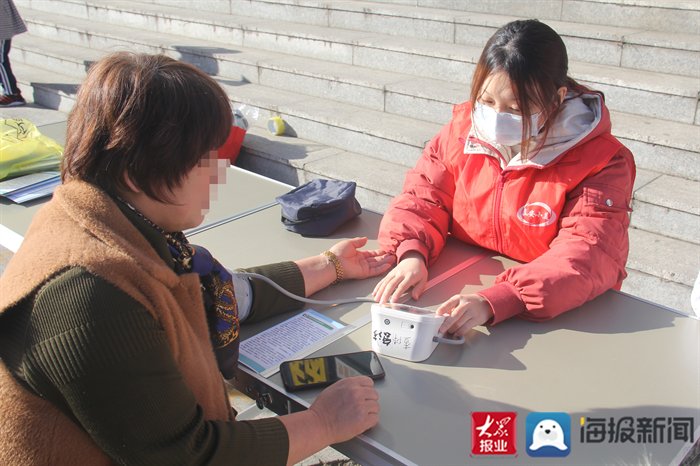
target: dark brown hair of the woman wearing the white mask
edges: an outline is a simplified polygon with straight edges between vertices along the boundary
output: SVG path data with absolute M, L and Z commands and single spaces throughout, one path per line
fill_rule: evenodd
M 544 137 L 535 148 L 536 152 L 561 109 L 557 90 L 567 87 L 577 93 L 585 91 L 569 77 L 568 71 L 566 46 L 554 29 L 536 19 L 512 21 L 499 28 L 486 42 L 472 78 L 471 103 L 476 104 L 489 76 L 504 72 L 513 85 L 523 115 L 532 114 L 533 104 L 542 109 Z M 530 119 L 523 118 L 523 142 L 529 134 Z M 522 155 L 529 155 L 527 144 L 522 146 Z

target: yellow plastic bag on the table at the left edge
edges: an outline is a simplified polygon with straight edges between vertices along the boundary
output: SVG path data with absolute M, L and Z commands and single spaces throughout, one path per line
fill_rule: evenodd
M 0 180 L 47 170 L 61 164 L 63 147 L 24 118 L 0 119 Z

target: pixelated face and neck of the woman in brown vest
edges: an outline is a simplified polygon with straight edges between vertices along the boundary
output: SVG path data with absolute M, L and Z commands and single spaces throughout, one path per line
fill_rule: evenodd
M 210 151 L 168 196 L 160 202 L 138 190 L 122 193 L 122 197 L 165 231 L 182 231 L 202 223 L 209 211 L 209 202 L 216 195 L 217 185 L 224 183 L 228 161 L 219 160 L 217 151 Z M 132 188 L 133 189 L 133 188 Z

